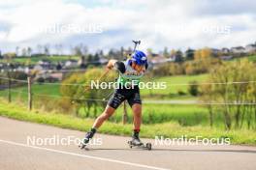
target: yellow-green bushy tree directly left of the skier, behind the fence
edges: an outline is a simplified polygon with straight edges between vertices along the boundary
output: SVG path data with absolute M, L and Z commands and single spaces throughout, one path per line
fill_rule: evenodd
M 102 75 L 103 71 L 100 69 L 91 69 L 85 73 L 74 73 L 71 76 L 63 80 L 63 84 L 77 83 L 85 86 L 61 86 L 61 94 L 66 97 L 70 97 L 70 103 L 74 103 L 76 106 L 76 114 L 80 115 L 80 108 L 84 109 L 86 113 L 85 117 L 89 117 L 91 109 L 93 108 L 93 117 L 97 116 L 98 106 L 105 107 L 105 102 L 97 100 L 105 98 L 104 94 L 110 94 L 112 89 L 95 89 L 90 87 L 92 80 L 97 81 Z M 114 81 L 115 73 L 109 72 L 108 75 L 102 77 L 100 82 Z

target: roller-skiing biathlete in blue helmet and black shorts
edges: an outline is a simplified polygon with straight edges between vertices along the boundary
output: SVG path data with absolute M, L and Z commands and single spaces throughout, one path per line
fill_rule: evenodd
M 85 134 L 81 148 L 84 148 L 95 132 L 108 120 L 115 109 L 127 100 L 132 108 L 134 115 L 133 124 L 134 131 L 132 135 L 132 143 L 135 146 L 143 145 L 140 140 L 139 133 L 142 124 L 142 100 L 140 97 L 139 83 L 147 69 L 147 58 L 143 51 L 135 50 L 131 58 L 126 61 L 110 60 L 107 65 L 108 70 L 116 70 L 119 72 L 117 79 L 118 88 L 115 89 L 112 98 L 104 112 L 95 120 L 92 128 Z

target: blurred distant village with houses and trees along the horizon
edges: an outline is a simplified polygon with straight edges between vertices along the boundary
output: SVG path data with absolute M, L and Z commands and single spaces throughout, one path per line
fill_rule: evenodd
M 62 44 L 41 45 L 38 44 L 36 49 L 31 47 L 20 48 L 16 46 L 16 52 L 2 53 L 0 50 L 0 72 L 7 71 L 17 72 L 15 77 L 26 79 L 24 74 L 33 75 L 34 81 L 61 81 L 65 73 L 70 71 L 85 71 L 87 68 L 100 67 L 106 65 L 109 59 L 125 60 L 127 55 L 131 53 L 132 48 L 110 49 L 104 53 L 98 50 L 94 54 L 88 52 L 88 47 L 82 43 L 75 47 L 71 47 L 70 54 L 63 54 L 64 46 Z M 54 52 L 51 52 L 54 51 Z M 256 42 L 245 46 L 203 48 L 188 48 L 185 51 L 169 50 L 165 47 L 162 51 L 155 53 L 148 48 L 146 53 L 148 56 L 149 68 L 155 70 L 166 63 L 183 63 L 194 60 L 199 53 L 204 52 L 213 58 L 229 61 L 240 57 L 247 57 L 256 53 Z M 202 73 L 202 72 L 200 72 Z

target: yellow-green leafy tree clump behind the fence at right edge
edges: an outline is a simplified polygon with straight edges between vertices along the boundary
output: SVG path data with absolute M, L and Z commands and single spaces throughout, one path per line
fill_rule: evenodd
M 215 84 L 212 84 L 210 89 L 204 88 L 203 96 L 206 97 L 205 99 L 210 97 L 213 102 L 223 103 L 216 107 L 222 111 L 227 129 L 232 128 L 233 122 L 235 128 L 241 128 L 245 118 L 247 118 L 248 127 L 251 125 L 256 106 L 244 103 L 255 103 L 256 87 L 255 83 L 251 83 L 256 81 L 253 73 L 255 71 L 253 63 L 247 60 L 224 63 L 210 71 L 210 82 Z M 256 123 L 256 114 L 254 117 Z

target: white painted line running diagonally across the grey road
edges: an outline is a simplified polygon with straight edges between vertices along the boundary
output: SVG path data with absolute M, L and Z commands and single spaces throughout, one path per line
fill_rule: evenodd
M 125 165 L 130 165 L 130 166 L 136 166 L 136 167 L 141 167 L 141 168 L 146 168 L 146 169 L 154 169 L 154 170 L 171 170 L 171 169 L 165 169 L 165 168 L 160 168 L 156 166 L 148 166 L 144 164 L 139 164 L 139 163 L 132 163 L 132 162 L 127 162 L 127 161 L 121 161 L 121 160 L 115 160 L 112 158 L 105 158 L 105 157 L 99 157 L 99 156 L 87 156 L 87 155 L 80 155 L 76 153 L 70 153 L 70 152 L 65 152 L 65 151 L 59 151 L 59 150 L 53 150 L 53 149 L 48 149 L 44 147 L 36 147 L 36 146 L 30 146 L 22 143 L 16 143 L 13 141 L 8 141 L 8 140 L 1 140 L 0 142 L 6 143 L 6 144 L 11 144 L 11 145 L 16 145 L 20 147 L 27 147 L 27 148 L 33 148 L 37 150 L 44 150 L 52 153 L 58 153 L 58 154 L 64 154 L 64 155 L 70 155 L 70 156 L 80 156 L 80 157 L 86 157 L 86 158 L 91 158 L 91 159 L 96 159 L 96 160 L 102 160 L 102 161 L 109 161 L 109 162 L 114 162 L 114 163 L 119 163 L 119 164 L 125 164 Z

